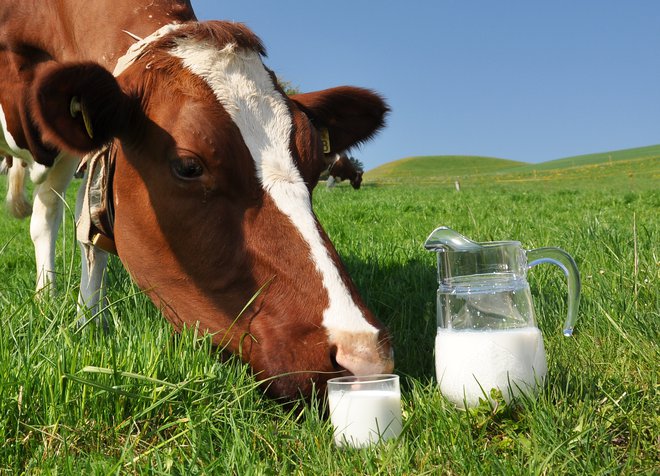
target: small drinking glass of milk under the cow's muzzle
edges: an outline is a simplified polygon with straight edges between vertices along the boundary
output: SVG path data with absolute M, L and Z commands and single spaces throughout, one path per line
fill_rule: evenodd
M 330 379 L 328 403 L 338 447 L 363 448 L 401 434 L 398 375 Z

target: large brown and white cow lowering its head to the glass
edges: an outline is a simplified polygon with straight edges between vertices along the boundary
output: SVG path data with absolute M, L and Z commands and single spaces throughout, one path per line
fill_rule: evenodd
M 320 131 L 331 153 L 344 150 L 383 126 L 387 106 L 353 87 L 289 98 L 263 56 L 245 26 L 198 23 L 187 1 L 5 0 L 0 149 L 19 159 L 12 183 L 19 162 L 39 183 L 38 288 L 54 280 L 58 197 L 77 157 L 101 150 L 112 164 L 106 235 L 131 277 L 175 327 L 199 323 L 271 395 L 292 398 L 393 368 L 387 331 L 310 198 L 325 167 Z M 88 201 L 81 192 L 78 214 Z M 107 254 L 82 248 L 79 303 L 94 312 Z

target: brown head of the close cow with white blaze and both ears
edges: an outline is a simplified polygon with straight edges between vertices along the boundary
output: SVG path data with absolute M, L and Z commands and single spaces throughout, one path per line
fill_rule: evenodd
M 33 93 L 50 143 L 113 143 L 114 234 L 139 287 L 175 326 L 214 333 L 274 396 L 391 371 L 390 338 L 311 208 L 323 129 L 333 153 L 365 141 L 383 100 L 352 87 L 287 97 L 240 24 L 183 24 L 132 50 L 116 78 L 57 65 Z

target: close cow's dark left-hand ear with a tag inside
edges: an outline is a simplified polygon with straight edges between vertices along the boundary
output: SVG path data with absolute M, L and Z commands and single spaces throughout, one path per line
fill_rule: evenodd
M 131 103 L 115 77 L 96 63 L 48 66 L 32 89 L 32 113 L 43 139 L 76 154 L 121 135 Z

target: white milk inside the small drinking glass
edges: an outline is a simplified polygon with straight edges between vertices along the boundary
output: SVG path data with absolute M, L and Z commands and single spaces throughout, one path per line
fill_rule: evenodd
M 328 393 L 337 446 L 361 448 L 401 434 L 401 395 L 388 390 Z

